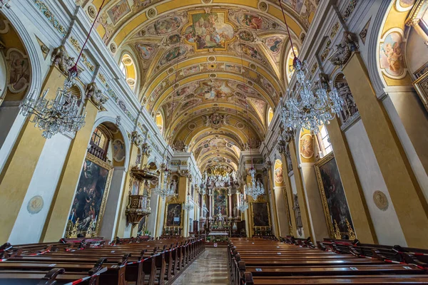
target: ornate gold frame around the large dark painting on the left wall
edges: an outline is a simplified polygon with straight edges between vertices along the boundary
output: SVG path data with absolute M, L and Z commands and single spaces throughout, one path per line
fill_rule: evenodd
M 108 198 L 108 193 L 110 192 L 111 177 L 113 177 L 114 168 L 112 165 L 108 164 L 107 162 L 105 162 L 103 160 L 100 160 L 98 157 L 95 157 L 89 153 L 85 157 L 85 161 L 86 160 L 88 160 L 89 162 L 92 162 L 94 165 L 97 165 L 98 167 L 101 167 L 103 170 L 107 171 L 106 185 L 104 186 L 100 208 L 99 208 L 98 214 L 96 215 L 95 229 L 88 227 L 88 229 L 83 231 L 85 233 L 86 237 L 96 237 L 100 232 L 100 226 L 101 226 L 101 223 L 103 222 L 104 211 L 106 209 L 106 202 L 107 202 L 107 198 Z M 83 168 L 81 170 L 81 173 L 82 173 L 82 171 L 83 171 Z M 76 191 L 74 193 L 72 203 L 74 203 L 74 199 L 76 198 L 76 195 L 78 194 L 80 183 L 81 183 L 81 178 L 79 177 L 78 185 L 76 187 Z M 71 219 L 70 219 L 70 215 L 73 214 L 73 209 L 76 210 L 74 205 L 71 206 L 71 210 L 68 213 L 67 229 L 66 229 L 66 234 L 65 234 L 66 237 L 76 237 L 78 233 L 82 232 L 82 230 L 78 228 L 78 225 L 79 225 L 78 222 L 73 222 L 73 215 L 71 216 Z

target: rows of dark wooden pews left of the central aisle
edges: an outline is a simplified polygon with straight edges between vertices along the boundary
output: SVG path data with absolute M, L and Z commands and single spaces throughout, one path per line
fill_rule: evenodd
M 19 279 L 21 283 L 25 280 L 29 284 L 39 284 L 38 279 L 43 279 L 46 284 L 54 280 L 56 284 L 66 284 L 76 278 L 85 279 L 82 284 L 121 285 L 133 282 L 138 285 L 163 285 L 165 281 L 172 282 L 203 252 L 205 241 L 183 238 L 158 241 L 116 239 L 111 245 L 98 241 L 96 247 L 82 241 L 67 242 L 71 241 L 56 243 L 61 247 L 56 247 L 55 251 L 51 251 L 53 247 L 49 243 L 19 246 L 21 249 L 31 248 L 31 251 L 12 250 L 14 247 L 6 244 L 3 254 L 7 259 L 0 262 L 0 281 Z M 93 264 L 100 260 L 102 266 L 98 264 L 98 269 L 94 270 L 96 266 Z M 50 272 L 53 268 L 57 270 Z M 14 276 L 16 278 L 12 278 Z M 49 278 L 51 281 L 46 281 Z

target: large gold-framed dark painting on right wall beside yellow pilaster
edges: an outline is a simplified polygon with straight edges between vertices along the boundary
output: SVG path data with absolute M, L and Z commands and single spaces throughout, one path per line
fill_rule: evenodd
M 347 235 L 349 239 L 355 239 L 350 209 L 333 152 L 315 164 L 315 172 L 330 237 L 342 239 L 343 235 Z

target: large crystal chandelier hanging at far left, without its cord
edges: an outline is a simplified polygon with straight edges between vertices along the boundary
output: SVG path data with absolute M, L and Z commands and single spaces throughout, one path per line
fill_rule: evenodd
M 34 93 L 27 96 L 19 104 L 21 115 L 32 115 L 31 123 L 43 130 L 44 138 L 52 138 L 57 133 L 71 133 L 80 130 L 85 125 L 86 112 L 83 107 L 79 112 L 78 98 L 70 91 L 76 81 L 77 73 L 70 71 L 63 88 L 56 90 L 55 100 L 47 100 L 49 88 L 41 96 Z M 83 114 L 83 115 L 81 115 Z

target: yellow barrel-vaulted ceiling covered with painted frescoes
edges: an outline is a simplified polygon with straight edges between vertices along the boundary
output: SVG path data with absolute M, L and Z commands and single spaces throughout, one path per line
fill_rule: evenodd
M 319 0 L 282 0 L 301 46 Z M 102 0 L 83 1 L 94 18 Z M 113 56 L 133 56 L 136 94 L 170 145 L 186 145 L 201 171 L 237 169 L 267 133 L 287 88 L 290 51 L 277 0 L 106 0 L 96 26 Z

